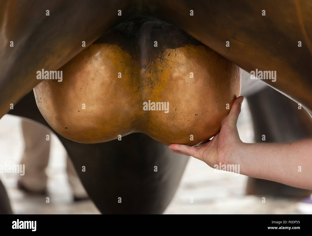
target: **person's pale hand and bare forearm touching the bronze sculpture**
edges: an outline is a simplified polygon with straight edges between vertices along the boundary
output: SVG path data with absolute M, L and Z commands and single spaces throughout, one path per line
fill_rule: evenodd
M 243 100 L 242 96 L 235 100 L 220 132 L 212 140 L 195 147 L 171 144 L 169 148 L 175 153 L 202 160 L 212 168 L 219 163 L 239 164 L 242 175 L 312 189 L 312 139 L 289 143 L 243 143 L 236 126 Z

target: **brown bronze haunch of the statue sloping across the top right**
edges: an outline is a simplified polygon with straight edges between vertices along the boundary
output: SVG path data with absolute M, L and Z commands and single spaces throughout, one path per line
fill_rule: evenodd
M 276 82 L 262 81 L 312 112 L 312 1 L 153 0 L 145 8 L 248 72 L 276 71 Z

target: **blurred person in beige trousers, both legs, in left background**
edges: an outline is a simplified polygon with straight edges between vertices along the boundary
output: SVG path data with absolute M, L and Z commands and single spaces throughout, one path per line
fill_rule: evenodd
M 50 141 L 46 140 L 46 135 L 51 136 L 51 132 L 43 125 L 36 124 L 23 119 L 21 122 L 22 133 L 25 142 L 24 154 L 21 163 L 25 164 L 25 175 L 19 177 L 17 186 L 33 194 L 46 193 L 48 177 L 46 167 L 50 155 Z M 71 186 L 75 201 L 88 199 L 85 188 L 76 173 L 76 170 L 69 158 L 66 158 L 66 172 L 69 185 Z

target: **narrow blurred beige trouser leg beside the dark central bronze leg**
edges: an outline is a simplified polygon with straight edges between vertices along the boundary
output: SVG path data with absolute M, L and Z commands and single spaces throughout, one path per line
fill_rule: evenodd
M 85 188 L 83 187 L 69 156 L 66 158 L 66 172 L 68 183 L 71 186 L 71 190 L 73 192 L 74 200 L 80 201 L 88 199 L 88 194 L 85 191 Z

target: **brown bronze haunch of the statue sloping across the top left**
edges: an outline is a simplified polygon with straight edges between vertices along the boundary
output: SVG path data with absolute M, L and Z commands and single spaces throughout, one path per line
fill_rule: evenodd
M 124 0 L 0 1 L 0 117 L 40 81 L 123 19 Z M 46 15 L 49 10 L 49 16 Z M 130 12 L 124 12 L 124 17 Z M 128 15 L 129 17 L 129 15 Z M 13 41 L 13 47 L 10 42 Z

